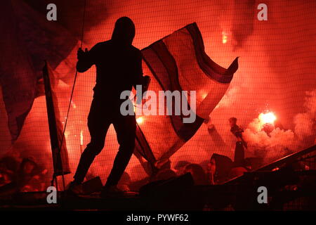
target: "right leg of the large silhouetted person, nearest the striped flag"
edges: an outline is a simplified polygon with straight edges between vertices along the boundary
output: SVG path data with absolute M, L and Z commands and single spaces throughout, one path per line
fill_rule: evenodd
M 119 152 L 114 159 L 113 167 L 107 178 L 105 188 L 116 186 L 129 164 L 131 155 L 135 147 L 136 118 L 135 115 L 119 115 L 113 120 L 114 129 L 117 132 L 119 142 Z

